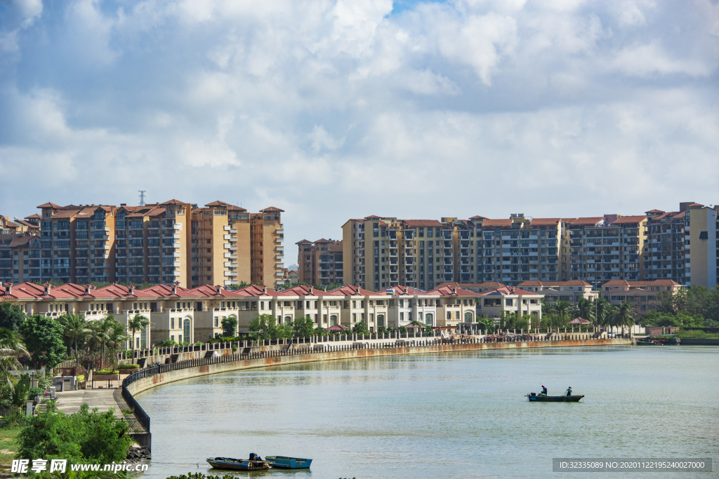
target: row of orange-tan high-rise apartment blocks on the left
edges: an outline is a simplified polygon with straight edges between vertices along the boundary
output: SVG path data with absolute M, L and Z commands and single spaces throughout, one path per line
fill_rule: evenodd
M 178 200 L 37 208 L 24 220 L 0 216 L 0 282 L 283 283 L 279 208 Z

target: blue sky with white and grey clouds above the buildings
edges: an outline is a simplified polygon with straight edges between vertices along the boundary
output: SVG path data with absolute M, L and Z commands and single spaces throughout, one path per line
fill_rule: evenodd
M 0 0 L 0 214 L 349 218 L 719 202 L 716 0 Z

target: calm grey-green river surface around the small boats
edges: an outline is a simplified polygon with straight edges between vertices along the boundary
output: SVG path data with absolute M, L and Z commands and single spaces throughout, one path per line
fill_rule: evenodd
M 526 401 L 541 384 L 586 397 Z M 312 468 L 234 475 L 546 477 L 553 457 L 711 457 L 713 473 L 633 475 L 719 477 L 719 348 L 710 346 L 325 361 L 188 379 L 137 399 L 152 418 L 153 479 L 219 474 L 206 457 L 249 452 L 311 457 Z

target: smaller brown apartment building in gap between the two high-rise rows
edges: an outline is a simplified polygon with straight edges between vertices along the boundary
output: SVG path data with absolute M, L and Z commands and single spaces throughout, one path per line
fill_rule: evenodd
M 321 238 L 296 244 L 298 281 L 317 286 L 343 284 L 342 241 Z

